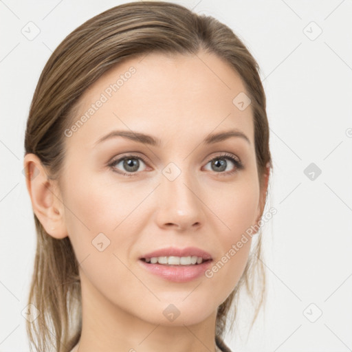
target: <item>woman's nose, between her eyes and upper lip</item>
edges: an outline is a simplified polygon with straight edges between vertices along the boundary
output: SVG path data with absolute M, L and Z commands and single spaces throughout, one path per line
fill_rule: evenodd
M 200 228 L 205 219 L 204 204 L 201 201 L 201 190 L 187 172 L 170 181 L 162 175 L 162 181 L 157 188 L 156 221 L 159 228 L 175 228 L 186 232 Z

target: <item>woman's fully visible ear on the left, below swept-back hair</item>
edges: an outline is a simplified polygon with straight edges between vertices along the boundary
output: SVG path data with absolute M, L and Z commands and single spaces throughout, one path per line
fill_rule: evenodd
M 65 225 L 65 206 L 61 200 L 56 181 L 49 179 L 41 159 L 33 153 L 28 153 L 23 161 L 25 179 L 32 201 L 32 208 L 43 228 L 56 239 L 67 236 Z

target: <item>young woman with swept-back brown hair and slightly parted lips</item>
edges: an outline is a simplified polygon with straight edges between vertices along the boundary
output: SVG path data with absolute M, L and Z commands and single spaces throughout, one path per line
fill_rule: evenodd
M 230 351 L 239 288 L 264 283 L 250 248 L 272 161 L 258 67 L 228 27 L 160 1 L 80 25 L 39 79 L 24 166 L 36 351 Z

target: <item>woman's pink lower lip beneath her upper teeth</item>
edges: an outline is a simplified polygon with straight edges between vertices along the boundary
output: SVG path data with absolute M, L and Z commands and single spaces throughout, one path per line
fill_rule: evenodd
M 152 274 L 160 276 L 174 283 L 187 283 L 201 277 L 211 265 L 212 261 L 205 261 L 196 265 L 162 265 L 151 264 L 139 260 L 140 265 Z

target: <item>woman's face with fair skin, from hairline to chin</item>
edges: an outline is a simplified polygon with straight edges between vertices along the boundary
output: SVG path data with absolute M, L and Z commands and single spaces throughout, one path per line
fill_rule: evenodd
M 124 61 L 85 91 L 65 131 L 61 184 L 83 302 L 162 325 L 216 313 L 248 260 L 250 236 L 236 243 L 261 214 L 252 107 L 243 94 L 239 76 L 204 52 Z M 208 138 L 228 131 L 245 137 Z M 182 267 L 142 260 L 163 249 L 155 256 L 204 251 L 211 260 L 181 259 Z

